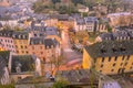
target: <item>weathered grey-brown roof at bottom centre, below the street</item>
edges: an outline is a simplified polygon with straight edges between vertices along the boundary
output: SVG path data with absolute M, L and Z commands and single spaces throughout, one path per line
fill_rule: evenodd
M 93 75 L 93 82 L 99 84 L 99 76 L 95 72 L 91 72 L 89 69 L 76 69 L 76 70 L 62 70 L 58 72 L 55 77 L 62 77 L 66 79 L 70 85 L 73 84 L 90 84 L 92 80 Z

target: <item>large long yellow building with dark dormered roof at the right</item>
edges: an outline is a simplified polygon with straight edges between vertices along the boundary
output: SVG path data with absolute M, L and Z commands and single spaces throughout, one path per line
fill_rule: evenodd
M 104 41 L 85 46 L 83 68 L 113 75 L 133 72 L 133 41 Z

